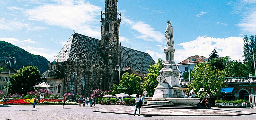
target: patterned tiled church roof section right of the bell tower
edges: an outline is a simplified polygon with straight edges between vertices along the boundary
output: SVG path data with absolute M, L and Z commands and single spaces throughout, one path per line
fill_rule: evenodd
M 142 73 L 142 63 L 144 66 L 144 73 L 148 73 L 149 64 L 155 64 L 153 58 L 148 54 L 127 47 L 120 46 L 121 51 L 121 65 L 124 67 L 131 67 L 139 73 Z

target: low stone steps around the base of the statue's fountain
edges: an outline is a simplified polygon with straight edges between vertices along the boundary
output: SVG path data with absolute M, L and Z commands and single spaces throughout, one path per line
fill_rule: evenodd
M 148 105 L 143 104 L 143 108 L 155 108 L 155 109 L 210 109 L 203 106 L 182 106 L 182 105 Z

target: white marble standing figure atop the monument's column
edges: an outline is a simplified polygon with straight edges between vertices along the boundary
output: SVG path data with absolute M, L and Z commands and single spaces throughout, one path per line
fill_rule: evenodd
M 172 29 L 171 21 L 169 21 L 169 20 L 167 21 L 167 27 L 166 27 L 164 36 L 166 37 L 167 45 L 174 47 L 173 29 Z

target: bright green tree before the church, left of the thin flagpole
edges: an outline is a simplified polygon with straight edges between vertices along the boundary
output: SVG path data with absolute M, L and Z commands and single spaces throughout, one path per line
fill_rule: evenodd
M 118 91 L 126 94 L 142 94 L 140 83 L 142 78 L 135 74 L 124 73 L 119 83 Z

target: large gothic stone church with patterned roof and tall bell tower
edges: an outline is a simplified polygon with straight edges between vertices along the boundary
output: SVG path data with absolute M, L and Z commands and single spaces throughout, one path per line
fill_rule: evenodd
M 121 13 L 117 3 L 117 0 L 105 0 L 100 40 L 74 32 L 49 63 L 48 71 L 41 78 L 56 87 L 51 89 L 54 94 L 62 96 L 74 91 L 88 96 L 95 89 L 111 90 L 113 84 L 119 84 L 123 73 L 142 77 L 149 64 L 155 64 L 148 53 L 119 44 Z

